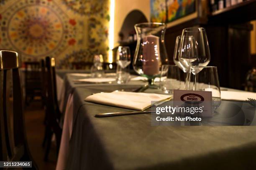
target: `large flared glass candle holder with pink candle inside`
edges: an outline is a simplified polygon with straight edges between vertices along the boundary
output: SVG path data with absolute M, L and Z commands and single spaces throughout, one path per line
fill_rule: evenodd
M 160 77 L 161 66 L 168 64 L 164 45 L 166 24 L 140 23 L 134 27 L 137 34 L 137 46 L 133 58 L 133 69 L 139 75 L 148 78 L 146 88 L 158 88 L 154 85 L 154 79 Z

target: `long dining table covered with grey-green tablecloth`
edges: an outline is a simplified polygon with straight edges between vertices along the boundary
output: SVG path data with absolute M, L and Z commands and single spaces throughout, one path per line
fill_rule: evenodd
M 246 117 L 241 118 L 241 124 L 232 126 L 152 126 L 151 114 L 95 117 L 99 113 L 133 110 L 86 102 L 86 97 L 115 90 L 134 91 L 146 82 L 130 81 L 121 85 L 77 82 L 82 77 L 63 72 L 56 70 L 63 114 L 56 170 L 256 168 L 256 127 L 243 126 Z M 158 93 L 158 90 L 145 92 Z M 216 111 L 230 116 L 256 113 L 255 107 L 247 102 L 231 100 L 222 100 Z

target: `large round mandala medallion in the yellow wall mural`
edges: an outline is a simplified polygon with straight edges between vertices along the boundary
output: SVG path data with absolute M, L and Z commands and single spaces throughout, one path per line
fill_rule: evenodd
M 0 15 L 0 44 L 25 57 L 58 56 L 74 45 L 76 21 L 51 0 L 18 0 Z

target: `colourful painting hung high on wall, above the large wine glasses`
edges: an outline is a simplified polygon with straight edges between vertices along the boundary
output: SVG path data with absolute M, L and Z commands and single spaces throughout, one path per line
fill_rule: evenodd
M 151 22 L 168 23 L 195 12 L 195 0 L 151 0 Z

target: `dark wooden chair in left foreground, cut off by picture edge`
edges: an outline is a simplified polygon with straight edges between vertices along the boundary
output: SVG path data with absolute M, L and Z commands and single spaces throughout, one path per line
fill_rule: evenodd
M 0 50 L 0 161 L 32 161 L 38 169 L 26 140 L 19 59 L 17 52 Z

